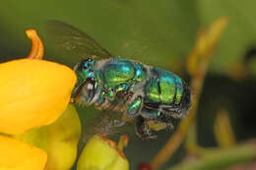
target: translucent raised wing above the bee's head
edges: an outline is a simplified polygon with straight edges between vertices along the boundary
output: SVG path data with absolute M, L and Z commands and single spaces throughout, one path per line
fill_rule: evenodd
M 88 56 L 103 59 L 111 54 L 102 48 L 94 38 L 69 24 L 49 21 L 45 25 L 46 35 L 59 50 L 82 60 Z

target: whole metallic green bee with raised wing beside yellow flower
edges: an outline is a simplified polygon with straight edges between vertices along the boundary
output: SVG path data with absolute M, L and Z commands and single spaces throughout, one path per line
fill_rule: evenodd
M 62 50 L 82 59 L 74 68 L 78 81 L 72 100 L 121 112 L 121 117 L 107 119 L 111 122 L 109 127 L 136 120 L 137 135 L 152 139 L 156 137 L 152 131 L 170 128 L 173 118 L 186 115 L 191 102 L 190 90 L 175 74 L 115 58 L 88 34 L 70 25 L 50 22 L 47 31 Z

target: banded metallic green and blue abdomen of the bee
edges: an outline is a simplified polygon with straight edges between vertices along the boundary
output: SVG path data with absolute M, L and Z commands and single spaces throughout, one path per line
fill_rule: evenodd
M 187 108 L 190 105 L 190 91 L 182 80 L 175 74 L 158 68 L 151 69 L 145 95 L 145 104 L 151 108 L 154 106 L 153 109 L 157 110 L 160 106 L 166 106 L 167 111 L 181 111 L 184 106 Z

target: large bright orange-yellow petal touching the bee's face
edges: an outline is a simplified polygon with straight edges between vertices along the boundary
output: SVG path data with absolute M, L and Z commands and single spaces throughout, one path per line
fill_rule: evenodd
M 54 122 L 67 107 L 75 73 L 64 65 L 21 59 L 0 64 L 0 132 L 22 134 Z

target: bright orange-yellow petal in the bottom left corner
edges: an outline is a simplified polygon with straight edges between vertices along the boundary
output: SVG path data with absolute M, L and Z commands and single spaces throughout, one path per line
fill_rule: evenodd
M 0 170 L 43 170 L 47 154 L 34 146 L 0 136 Z

